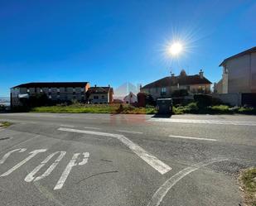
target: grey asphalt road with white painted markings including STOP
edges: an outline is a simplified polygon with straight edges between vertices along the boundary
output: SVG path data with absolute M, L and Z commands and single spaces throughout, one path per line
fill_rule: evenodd
M 0 205 L 239 205 L 256 117 L 0 114 Z

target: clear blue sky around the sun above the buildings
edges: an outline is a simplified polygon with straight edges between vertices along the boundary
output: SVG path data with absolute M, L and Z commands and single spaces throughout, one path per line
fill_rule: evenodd
M 231 3 L 232 2 L 232 3 Z M 256 46 L 256 1 L 2 1 L 0 96 L 33 81 L 147 84 Z M 171 41 L 184 52 L 167 56 Z

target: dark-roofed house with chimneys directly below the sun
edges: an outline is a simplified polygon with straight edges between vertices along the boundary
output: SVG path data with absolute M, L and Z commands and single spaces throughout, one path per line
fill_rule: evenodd
M 210 93 L 210 85 L 211 82 L 204 77 L 202 70 L 195 75 L 187 75 L 185 70 L 181 70 L 178 76 L 171 74 L 143 86 L 141 92 L 151 94 L 154 99 L 167 98 L 171 97 L 174 91 L 181 89 L 186 89 L 188 93 Z

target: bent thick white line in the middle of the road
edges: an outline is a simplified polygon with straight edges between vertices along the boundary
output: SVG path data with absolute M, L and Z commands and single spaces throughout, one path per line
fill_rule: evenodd
M 123 135 L 106 132 L 76 130 L 70 128 L 59 128 L 58 130 L 65 132 L 77 132 L 83 134 L 117 138 L 119 141 L 123 142 L 125 146 L 128 146 L 128 148 L 132 150 L 136 155 L 142 158 L 142 160 L 146 161 L 148 165 L 151 165 L 155 170 L 157 170 L 162 175 L 171 170 L 171 167 L 169 165 L 162 162 L 162 160 L 158 160 L 156 156 L 153 156 L 149 152 L 145 151 L 144 149 L 142 149 L 142 147 L 136 145 L 135 143 L 133 143 L 133 141 L 130 141 L 127 137 L 124 137 Z

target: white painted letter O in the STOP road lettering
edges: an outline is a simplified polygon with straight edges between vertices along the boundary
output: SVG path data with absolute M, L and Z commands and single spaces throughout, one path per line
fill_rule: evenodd
M 45 171 L 45 173 L 43 175 L 40 175 L 38 177 L 35 177 L 36 173 L 41 170 L 41 168 L 46 165 L 46 163 L 51 160 L 51 158 L 53 156 L 55 156 L 56 154 L 60 153 L 60 156 L 57 157 L 57 159 L 54 161 L 54 163 L 51 164 L 51 166 Z M 47 156 L 45 160 L 43 160 L 41 162 L 40 165 L 36 166 L 36 168 L 34 170 L 31 171 L 31 173 L 29 173 L 26 178 L 25 181 L 26 182 L 31 182 L 32 180 L 37 181 L 37 180 L 41 180 L 43 178 L 45 178 L 46 176 L 50 175 L 51 172 L 56 168 L 56 165 L 59 164 L 60 160 L 62 160 L 62 158 L 65 156 L 65 151 L 56 151 L 54 153 L 52 153 L 50 156 Z

